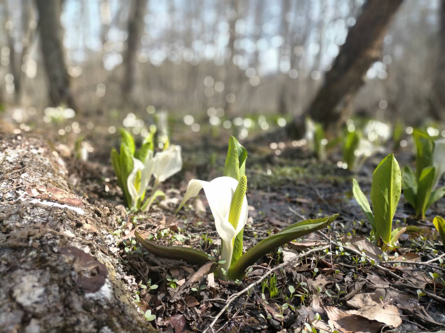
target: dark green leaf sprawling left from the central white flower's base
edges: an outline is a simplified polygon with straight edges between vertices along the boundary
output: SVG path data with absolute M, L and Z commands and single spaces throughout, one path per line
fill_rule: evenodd
M 155 242 L 149 241 L 148 239 L 144 239 L 142 235 L 138 233 L 138 231 L 135 231 L 134 235 L 138 242 L 141 243 L 146 250 L 161 258 L 183 260 L 190 264 L 202 264 L 203 262 L 211 260 L 208 254 L 200 250 L 184 246 L 159 245 Z

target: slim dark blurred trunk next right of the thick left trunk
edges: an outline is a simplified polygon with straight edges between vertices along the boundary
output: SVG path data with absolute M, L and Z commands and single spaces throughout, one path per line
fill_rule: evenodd
M 137 52 L 144 30 L 144 14 L 147 8 L 147 0 L 134 0 L 131 2 L 128 18 L 127 50 L 124 54 L 124 81 L 122 91 L 125 101 L 129 101 L 134 87 Z

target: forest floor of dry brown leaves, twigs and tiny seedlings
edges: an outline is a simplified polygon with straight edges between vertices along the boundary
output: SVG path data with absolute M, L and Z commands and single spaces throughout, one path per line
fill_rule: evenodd
M 190 179 L 211 180 L 223 174 L 228 136 L 211 144 L 218 140 L 177 135 L 173 143 L 181 143 L 183 170 L 162 183 L 166 197 L 159 198 L 146 214 L 123 206 L 109 162 L 117 136 L 94 139 L 96 150 L 101 147 L 101 151 L 93 154 L 91 161 L 65 158 L 68 179 L 74 193 L 95 206 L 108 207 L 115 216 L 100 222 L 102 232 L 113 234 L 108 246 L 119 258 L 135 307 L 141 310 L 141 317 L 150 309 L 156 316 L 151 323 L 159 331 L 445 329 L 444 285 L 429 274 L 445 278 L 443 245 L 432 224 L 434 216 L 445 212 L 445 198 L 429 209 L 426 220 L 418 221 L 402 194 L 393 227 L 414 225 L 421 232 L 403 234 L 400 245 L 387 254 L 367 240 L 370 226 L 352 196 L 352 178 L 369 197 L 372 172 L 384 154 L 372 156 L 360 172 L 352 174 L 336 165 L 338 151 L 320 162 L 306 147 L 294 147 L 291 141 L 279 143 L 279 155 L 263 139 L 243 143 L 248 151 L 249 204 L 244 250 L 302 219 L 340 216 L 329 228 L 265 256 L 243 281 L 235 283 L 214 277 L 209 264 L 190 266 L 155 257 L 134 238 L 138 230 L 165 245 L 188 245 L 217 253 L 218 234 L 202 193 L 174 213 Z M 408 148 L 395 155 L 401 166 L 413 163 Z M 253 289 L 247 289 L 250 284 Z

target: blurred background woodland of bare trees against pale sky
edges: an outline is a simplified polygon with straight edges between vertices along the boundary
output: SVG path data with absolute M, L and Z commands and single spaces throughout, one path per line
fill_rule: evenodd
M 14 107 L 63 104 L 90 116 L 214 107 L 231 117 L 309 114 L 334 127 L 353 110 L 408 123 L 445 114 L 445 0 L 0 6 L 0 99 Z

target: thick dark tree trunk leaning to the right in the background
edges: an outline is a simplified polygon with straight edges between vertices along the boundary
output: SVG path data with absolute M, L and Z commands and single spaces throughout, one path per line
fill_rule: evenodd
M 403 0 L 368 0 L 357 23 L 349 29 L 346 42 L 330 71 L 325 74 L 323 86 L 317 92 L 306 115 L 334 130 L 344 120 L 346 103 L 363 84 L 363 75 L 380 58 L 384 35 L 391 18 Z M 342 105 L 343 104 L 343 105 Z M 295 124 L 288 128 L 290 135 L 299 136 Z

